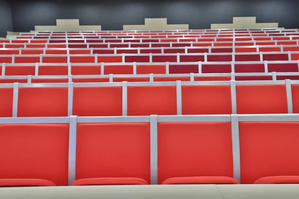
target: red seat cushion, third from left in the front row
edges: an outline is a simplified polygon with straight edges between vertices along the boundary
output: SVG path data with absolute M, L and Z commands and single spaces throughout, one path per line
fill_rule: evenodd
M 239 184 L 236 179 L 223 176 L 180 177 L 168 178 L 162 185 L 193 185 L 193 184 Z

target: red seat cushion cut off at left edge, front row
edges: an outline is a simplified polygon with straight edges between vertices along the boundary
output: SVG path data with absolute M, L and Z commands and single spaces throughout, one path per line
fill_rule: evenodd
M 0 179 L 0 187 L 46 187 L 56 186 L 53 182 L 42 179 Z

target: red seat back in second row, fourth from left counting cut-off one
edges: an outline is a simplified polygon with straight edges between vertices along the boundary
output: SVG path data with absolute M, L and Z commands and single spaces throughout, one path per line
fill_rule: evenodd
M 159 83 L 147 83 L 149 86 L 130 84 L 128 84 L 128 115 L 177 114 L 175 82 L 168 84 L 164 82 L 160 84 L 161 86 L 157 85 Z

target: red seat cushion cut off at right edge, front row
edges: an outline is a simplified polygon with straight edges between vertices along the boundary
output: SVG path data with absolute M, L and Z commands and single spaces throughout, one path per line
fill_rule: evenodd
M 299 176 L 269 176 L 256 180 L 253 184 L 299 184 Z

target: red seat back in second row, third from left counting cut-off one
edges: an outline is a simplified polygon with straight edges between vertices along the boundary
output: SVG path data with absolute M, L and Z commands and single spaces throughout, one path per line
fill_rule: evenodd
M 73 114 L 121 116 L 122 87 L 74 87 Z

